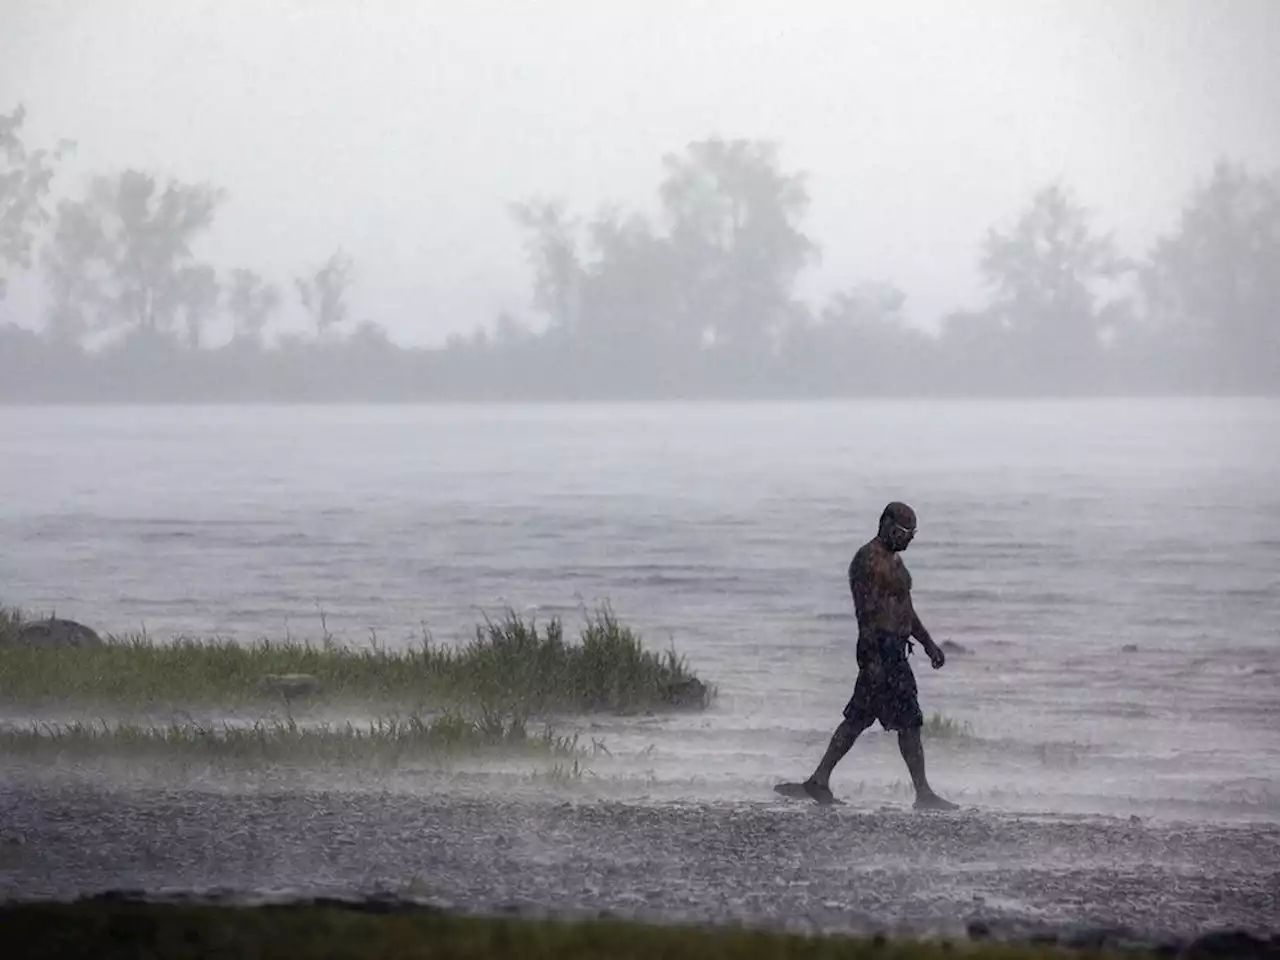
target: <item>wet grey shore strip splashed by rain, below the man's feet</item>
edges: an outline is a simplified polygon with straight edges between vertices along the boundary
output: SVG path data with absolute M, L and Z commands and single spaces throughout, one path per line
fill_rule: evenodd
M 818 931 L 1280 932 L 1280 824 L 41 778 L 0 781 L 0 814 L 4 899 L 392 893 Z

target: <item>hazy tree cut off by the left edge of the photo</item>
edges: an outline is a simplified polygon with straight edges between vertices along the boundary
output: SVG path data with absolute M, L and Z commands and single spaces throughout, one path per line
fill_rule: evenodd
M 54 150 L 27 152 L 22 142 L 26 109 L 0 114 L 0 300 L 9 285 L 9 271 L 31 269 L 36 229 L 49 221 L 44 200 L 54 178 L 54 163 L 72 148 L 59 141 Z

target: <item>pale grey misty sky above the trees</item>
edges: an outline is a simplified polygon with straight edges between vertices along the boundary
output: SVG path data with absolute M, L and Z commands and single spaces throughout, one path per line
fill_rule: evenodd
M 0 110 L 78 142 L 59 189 L 225 187 L 220 266 L 288 284 L 343 246 L 353 316 L 406 343 L 529 315 L 508 201 L 652 207 L 663 152 L 776 138 L 810 174 L 806 296 L 890 280 L 928 325 L 1048 179 L 1140 253 L 1219 155 L 1280 166 L 1277 51 L 1275 0 L 0 0 Z

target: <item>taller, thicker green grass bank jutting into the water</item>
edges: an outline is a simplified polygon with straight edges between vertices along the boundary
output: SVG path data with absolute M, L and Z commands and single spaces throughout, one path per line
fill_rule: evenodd
M 145 707 L 282 699 L 488 704 L 506 710 L 636 712 L 700 708 L 709 691 L 673 650 L 644 648 L 639 634 L 604 607 L 575 641 L 558 618 L 539 628 L 508 613 L 476 626 L 461 646 L 424 637 L 403 650 L 356 649 L 325 637 L 298 640 L 146 636 L 100 646 L 41 648 L 5 643 L 22 620 L 0 613 L 0 703 L 60 701 Z

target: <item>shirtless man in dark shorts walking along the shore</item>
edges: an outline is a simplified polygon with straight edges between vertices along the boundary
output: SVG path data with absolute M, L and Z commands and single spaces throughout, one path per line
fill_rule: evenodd
M 835 801 L 831 772 L 876 721 L 897 731 L 902 759 L 915 785 L 916 809 L 954 810 L 957 804 L 933 792 L 924 776 L 924 746 L 920 726 L 924 716 L 916 700 L 915 675 L 906 662 L 910 639 L 924 646 L 929 663 L 938 669 L 946 655 L 911 605 L 911 575 L 899 554 L 915 536 L 915 511 L 891 503 L 881 515 L 879 532 L 854 554 L 849 564 L 849 589 L 858 614 L 858 681 L 845 707 L 845 719 L 831 737 L 822 763 L 804 782 L 805 792 L 820 804 Z

